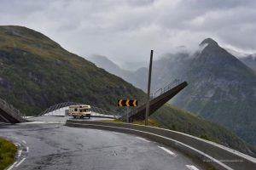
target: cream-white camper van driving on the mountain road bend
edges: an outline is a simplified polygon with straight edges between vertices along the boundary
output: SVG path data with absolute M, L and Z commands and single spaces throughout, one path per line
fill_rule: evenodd
M 73 118 L 90 118 L 90 105 L 70 105 L 68 115 Z

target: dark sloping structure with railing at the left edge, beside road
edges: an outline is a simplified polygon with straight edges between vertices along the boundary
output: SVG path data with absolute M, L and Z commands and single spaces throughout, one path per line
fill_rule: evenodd
M 0 99 L 0 122 L 18 123 L 26 122 L 19 110 L 9 105 L 4 99 Z

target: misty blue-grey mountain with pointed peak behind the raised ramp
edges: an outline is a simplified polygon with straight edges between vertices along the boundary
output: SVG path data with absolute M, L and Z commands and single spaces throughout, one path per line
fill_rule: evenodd
M 145 91 L 148 69 L 141 68 L 134 75 L 137 77 L 130 82 Z M 173 105 L 228 127 L 256 144 L 255 71 L 207 38 L 195 54 L 166 54 L 154 61 L 151 91 L 154 94 L 176 78 L 186 80 L 189 86 L 171 100 Z

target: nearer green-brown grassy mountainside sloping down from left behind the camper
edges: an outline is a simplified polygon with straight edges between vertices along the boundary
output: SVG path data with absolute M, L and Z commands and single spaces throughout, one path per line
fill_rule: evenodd
M 0 26 L 0 68 L 0 97 L 26 115 L 65 101 L 117 110 L 117 99 L 145 98 L 142 90 L 26 27 Z M 151 118 L 161 127 L 255 156 L 252 146 L 224 127 L 171 105 L 163 106 Z

